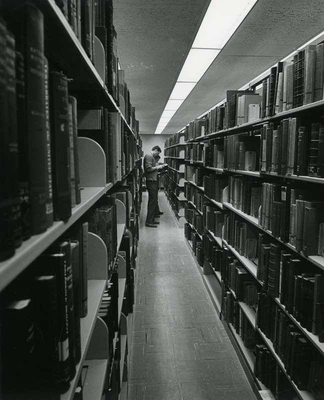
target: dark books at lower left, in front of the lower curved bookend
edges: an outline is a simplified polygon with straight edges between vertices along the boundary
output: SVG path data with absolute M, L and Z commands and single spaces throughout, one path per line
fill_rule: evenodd
M 75 376 L 87 314 L 87 223 L 73 230 L 1 293 L 3 398 L 56 399 Z

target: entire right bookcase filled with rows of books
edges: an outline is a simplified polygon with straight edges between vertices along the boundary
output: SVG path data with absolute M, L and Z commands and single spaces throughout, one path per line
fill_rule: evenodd
M 258 398 L 323 397 L 324 97 L 304 86 L 323 47 L 292 56 L 289 88 L 278 62 L 169 138 L 185 137 L 185 237 Z

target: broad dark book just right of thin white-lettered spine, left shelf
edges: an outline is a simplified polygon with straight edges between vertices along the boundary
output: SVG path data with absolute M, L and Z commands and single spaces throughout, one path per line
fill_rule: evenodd
M 50 79 L 54 219 L 64 221 L 71 216 L 67 78 L 51 71 Z

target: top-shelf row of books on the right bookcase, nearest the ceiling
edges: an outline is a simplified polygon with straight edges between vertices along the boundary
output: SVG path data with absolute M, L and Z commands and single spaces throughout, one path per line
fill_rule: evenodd
M 322 100 L 324 43 L 309 44 L 292 61 L 279 61 L 262 81 L 259 92 L 227 90 L 223 105 L 195 118 L 185 130 L 185 140 L 265 118 Z

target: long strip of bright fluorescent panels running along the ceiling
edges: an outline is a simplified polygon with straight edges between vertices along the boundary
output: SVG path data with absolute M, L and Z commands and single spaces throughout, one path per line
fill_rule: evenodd
M 257 1 L 211 0 L 165 110 L 177 111 Z

